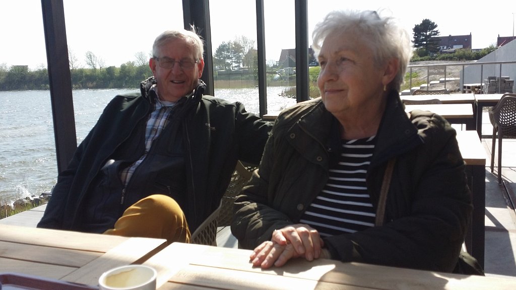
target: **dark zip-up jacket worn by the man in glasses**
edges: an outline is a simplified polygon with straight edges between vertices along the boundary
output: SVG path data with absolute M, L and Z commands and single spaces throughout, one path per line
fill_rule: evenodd
M 97 201 L 94 199 L 101 200 L 91 195 L 95 186 L 100 183 L 99 180 L 104 178 L 101 168 L 107 160 L 116 156 L 120 147 L 133 146 L 135 143 L 139 145 L 135 146 L 135 153 L 130 153 L 134 156 L 127 159 L 137 160 L 141 156 L 141 150 L 144 150 L 141 149 L 144 124 L 153 108 L 152 98 L 149 98 L 153 84 L 154 78 L 149 78 L 142 82 L 140 93 L 118 95 L 106 106 L 99 121 L 78 146 L 69 167 L 59 174 L 38 227 L 91 232 L 106 230 L 100 227 L 87 228 L 83 219 L 96 210 Z M 169 178 L 186 178 L 187 208 L 183 208 L 183 211 L 191 232 L 219 205 L 237 160 L 254 164 L 260 162 L 272 127 L 269 122 L 247 112 L 240 103 L 202 95 L 204 88 L 205 85 L 200 82 L 193 95 L 180 100 L 174 107 L 173 119 L 167 125 L 169 127 L 174 124 L 177 127 L 175 131 L 181 132 L 179 139 L 184 144 L 180 151 L 185 164 L 183 171 L 186 173 L 170 174 Z M 181 116 L 181 119 L 177 119 L 177 116 Z M 170 130 L 168 133 L 175 134 Z M 163 143 L 160 139 L 167 138 L 164 135 L 166 134 L 160 135 L 153 142 L 153 148 L 155 143 Z M 172 139 L 172 143 L 178 138 L 168 139 Z M 167 147 L 165 144 L 159 150 L 171 151 L 171 147 L 172 145 Z M 170 156 L 174 152 L 155 154 Z M 112 194 L 116 194 L 120 200 L 120 190 L 114 191 Z M 119 217 L 130 203 L 125 201 L 112 210 Z

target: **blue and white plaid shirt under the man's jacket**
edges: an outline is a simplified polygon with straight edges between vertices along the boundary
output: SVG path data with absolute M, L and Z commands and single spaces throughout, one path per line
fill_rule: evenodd
M 156 86 L 154 86 L 152 90 L 156 92 L 156 97 L 153 102 L 154 109 L 149 115 L 149 120 L 147 120 L 145 129 L 145 153 L 143 153 L 140 159 L 130 167 L 127 167 L 120 172 L 120 180 L 125 186 L 127 186 L 127 183 L 131 180 L 131 176 L 133 176 L 134 171 L 143 162 L 143 159 L 145 159 L 149 150 L 151 150 L 152 141 L 159 136 L 159 133 L 161 133 L 163 128 L 167 125 L 171 116 L 170 112 L 172 111 L 172 107 L 175 105 L 175 103 L 172 102 L 159 100 Z

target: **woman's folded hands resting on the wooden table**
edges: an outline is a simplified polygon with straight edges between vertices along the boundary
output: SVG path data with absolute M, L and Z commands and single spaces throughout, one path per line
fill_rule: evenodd
M 308 261 L 319 259 L 322 247 L 324 242 L 317 230 L 307 224 L 293 224 L 275 230 L 270 241 L 264 241 L 254 249 L 250 260 L 253 266 L 264 269 L 272 265 L 281 267 L 294 257 L 304 257 Z

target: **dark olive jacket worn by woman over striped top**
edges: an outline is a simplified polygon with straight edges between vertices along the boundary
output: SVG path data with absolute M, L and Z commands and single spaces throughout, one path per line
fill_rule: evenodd
M 271 233 L 298 223 L 328 180 L 340 150 L 336 119 L 315 99 L 283 111 L 260 168 L 235 201 L 231 230 L 253 249 Z M 333 259 L 452 271 L 471 218 L 471 193 L 456 132 L 440 116 L 409 118 L 392 92 L 377 133 L 366 183 L 376 210 L 386 163 L 396 158 L 385 223 L 324 238 Z

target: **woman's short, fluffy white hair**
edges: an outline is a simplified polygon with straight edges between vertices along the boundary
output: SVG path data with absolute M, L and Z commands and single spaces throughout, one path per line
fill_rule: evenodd
M 390 88 L 400 91 L 407 65 L 412 57 L 409 34 L 393 17 L 382 17 L 376 11 L 332 11 L 317 23 L 312 33 L 312 48 L 317 56 L 327 36 L 351 30 L 370 44 L 377 65 L 396 58 L 399 70 Z M 353 41 L 353 40 L 350 40 Z

